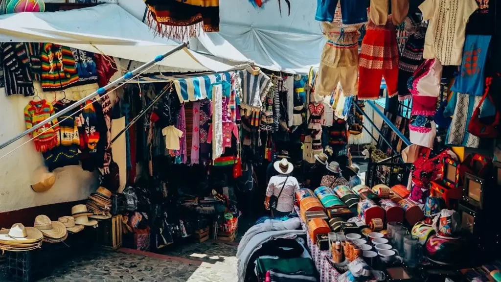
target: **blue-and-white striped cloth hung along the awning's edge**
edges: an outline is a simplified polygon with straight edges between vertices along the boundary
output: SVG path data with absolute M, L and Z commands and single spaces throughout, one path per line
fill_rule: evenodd
M 194 102 L 205 98 L 211 99 L 212 84 L 221 80 L 231 81 L 231 73 L 224 72 L 174 80 L 179 102 Z

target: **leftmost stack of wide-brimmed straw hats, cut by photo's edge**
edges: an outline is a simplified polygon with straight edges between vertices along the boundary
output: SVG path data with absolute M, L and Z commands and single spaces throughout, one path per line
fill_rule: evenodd
M 0 249 L 6 251 L 30 251 L 42 245 L 44 235 L 35 227 L 15 223 L 11 229 L 0 230 Z

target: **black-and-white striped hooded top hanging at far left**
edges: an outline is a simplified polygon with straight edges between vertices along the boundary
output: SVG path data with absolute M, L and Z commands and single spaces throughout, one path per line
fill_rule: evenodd
M 5 93 L 8 96 L 13 94 L 34 95 L 30 57 L 25 44 L 0 44 L 0 60 L 4 68 Z

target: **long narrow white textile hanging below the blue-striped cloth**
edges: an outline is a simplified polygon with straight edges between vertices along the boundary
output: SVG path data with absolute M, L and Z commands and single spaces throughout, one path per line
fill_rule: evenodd
M 212 88 L 212 160 L 222 155 L 222 135 L 222 85 L 219 84 Z

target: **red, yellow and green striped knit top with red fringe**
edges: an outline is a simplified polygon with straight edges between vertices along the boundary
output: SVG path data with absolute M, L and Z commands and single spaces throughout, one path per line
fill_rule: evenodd
M 30 101 L 25 107 L 25 122 L 26 128 L 30 129 L 34 125 L 39 124 L 47 118 L 54 115 L 54 108 L 46 100 Z M 55 125 L 53 128 L 51 126 Z M 45 132 L 44 132 L 45 131 Z M 46 123 L 41 128 L 32 133 L 35 148 L 39 152 L 47 152 L 48 150 L 58 146 L 59 144 L 59 124 L 57 118 Z

